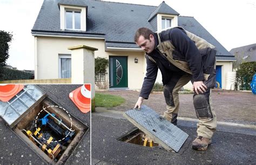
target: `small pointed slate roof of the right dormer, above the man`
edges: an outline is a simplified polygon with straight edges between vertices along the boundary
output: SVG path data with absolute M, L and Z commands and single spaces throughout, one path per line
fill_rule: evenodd
M 179 15 L 179 13 L 173 10 L 169 5 L 167 5 L 164 1 L 157 7 L 157 9 L 151 13 L 149 20 L 153 19 L 158 13 L 167 14 L 167 15 Z

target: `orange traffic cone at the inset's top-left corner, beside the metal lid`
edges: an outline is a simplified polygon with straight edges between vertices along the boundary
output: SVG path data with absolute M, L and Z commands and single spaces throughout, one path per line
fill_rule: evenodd
M 22 84 L 7 84 L 7 85 L 0 85 L 0 101 L 8 102 L 12 97 L 18 94 L 24 85 Z

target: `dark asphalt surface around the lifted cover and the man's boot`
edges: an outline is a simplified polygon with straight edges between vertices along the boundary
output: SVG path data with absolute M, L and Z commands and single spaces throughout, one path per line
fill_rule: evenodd
M 92 113 L 92 164 L 255 164 L 255 135 L 217 131 L 207 150 L 191 147 L 196 128 L 178 126 L 189 134 L 178 153 L 118 141 L 134 126 L 126 119 Z M 254 130 L 256 131 L 256 130 Z

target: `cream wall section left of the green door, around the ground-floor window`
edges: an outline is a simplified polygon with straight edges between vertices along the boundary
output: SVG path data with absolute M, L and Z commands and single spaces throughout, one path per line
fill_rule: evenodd
M 99 50 L 105 49 L 104 40 L 99 39 L 37 37 L 36 40 L 36 79 L 59 78 L 58 55 L 71 55 L 71 51 L 68 49 L 68 47 L 86 45 L 90 47 L 96 47 Z M 96 51 L 95 56 L 99 55 L 101 55 L 100 51 Z

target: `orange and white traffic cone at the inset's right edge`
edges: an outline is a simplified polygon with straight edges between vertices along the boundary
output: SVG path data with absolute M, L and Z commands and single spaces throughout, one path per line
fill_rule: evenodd
M 91 84 L 84 84 L 69 94 L 69 98 L 76 104 L 78 109 L 87 113 L 91 111 Z

